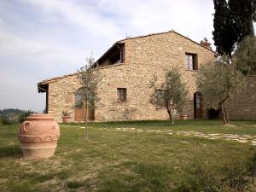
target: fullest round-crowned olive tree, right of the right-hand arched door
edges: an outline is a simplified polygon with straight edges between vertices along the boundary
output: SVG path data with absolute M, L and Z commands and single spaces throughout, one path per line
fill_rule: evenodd
M 245 86 L 244 76 L 230 64 L 227 56 L 200 68 L 196 84 L 209 108 L 221 108 L 224 124 L 229 124 L 227 102 Z

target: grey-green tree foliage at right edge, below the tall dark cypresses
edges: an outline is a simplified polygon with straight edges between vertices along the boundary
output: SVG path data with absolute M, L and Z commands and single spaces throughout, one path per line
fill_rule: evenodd
M 256 38 L 248 36 L 237 45 L 232 62 L 244 74 L 256 74 Z

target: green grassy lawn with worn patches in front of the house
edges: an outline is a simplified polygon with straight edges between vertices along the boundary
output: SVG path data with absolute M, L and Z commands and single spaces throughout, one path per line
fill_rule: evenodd
M 55 156 L 48 160 L 22 159 L 16 137 L 19 125 L 0 125 L 0 191 L 197 192 L 220 191 L 218 186 L 221 191 L 231 191 L 230 186 L 240 191 L 233 186 L 237 183 L 255 191 L 255 177 L 247 172 L 256 152 L 251 143 L 177 134 L 200 131 L 256 138 L 255 121 L 232 124 L 211 120 L 177 121 L 176 125 L 90 123 L 88 141 L 82 124 L 62 124 Z M 167 134 L 170 130 L 172 134 Z

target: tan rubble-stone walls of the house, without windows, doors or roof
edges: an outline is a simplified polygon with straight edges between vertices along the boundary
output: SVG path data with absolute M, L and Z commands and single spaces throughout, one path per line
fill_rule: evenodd
M 186 52 L 198 54 L 199 67 L 214 59 L 214 53 L 175 32 L 142 38 L 125 39 L 125 63 L 102 67 L 99 87 L 100 103 L 96 108 L 96 121 L 168 119 L 166 109 L 152 105 L 150 79 L 157 75 L 164 79 L 168 67 L 177 66 L 189 89 L 188 113 L 194 118 L 196 71 L 186 70 Z M 127 101 L 117 101 L 117 88 L 127 89 Z M 61 121 L 63 110 L 73 110 L 74 92 L 79 89 L 76 76 L 55 79 L 49 83 L 49 113 Z

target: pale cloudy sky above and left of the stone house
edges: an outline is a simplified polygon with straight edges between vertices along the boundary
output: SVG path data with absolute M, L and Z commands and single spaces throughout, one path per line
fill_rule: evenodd
M 0 109 L 42 112 L 38 82 L 127 36 L 175 30 L 213 44 L 213 12 L 212 0 L 0 0 Z

